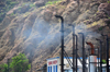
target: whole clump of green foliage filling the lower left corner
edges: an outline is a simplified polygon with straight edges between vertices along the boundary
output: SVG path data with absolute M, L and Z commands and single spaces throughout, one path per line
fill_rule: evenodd
M 0 65 L 0 72 L 25 72 L 31 68 L 29 64 L 29 59 L 25 57 L 24 53 L 20 53 L 12 58 L 12 61 L 9 63 L 3 63 Z

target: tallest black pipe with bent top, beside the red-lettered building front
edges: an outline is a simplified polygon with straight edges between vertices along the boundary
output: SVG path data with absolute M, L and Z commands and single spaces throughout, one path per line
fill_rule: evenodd
M 61 34 L 62 34 L 61 35 L 61 37 L 62 37 L 62 55 L 61 55 L 62 59 L 61 59 L 61 67 L 62 67 L 62 69 L 61 69 L 61 72 L 64 72 L 64 19 L 61 15 L 55 15 L 55 17 L 58 17 L 58 19 L 62 20 L 62 26 L 61 26 L 61 28 L 62 28 L 62 31 L 61 31 Z

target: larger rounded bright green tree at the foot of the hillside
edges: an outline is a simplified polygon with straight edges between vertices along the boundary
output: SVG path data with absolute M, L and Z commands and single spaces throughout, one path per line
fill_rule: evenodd
M 29 64 L 29 59 L 24 53 L 20 53 L 12 58 L 12 62 L 10 63 L 10 68 L 13 72 L 25 72 L 31 68 Z

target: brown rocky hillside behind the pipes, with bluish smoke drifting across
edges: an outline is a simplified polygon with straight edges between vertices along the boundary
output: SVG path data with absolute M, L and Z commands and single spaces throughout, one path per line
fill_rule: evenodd
M 30 59 L 35 71 L 46 63 L 47 58 L 59 56 L 61 20 L 56 19 L 55 14 L 64 17 L 65 50 L 69 56 L 73 39 L 72 27 L 68 24 L 76 26 L 76 34 L 85 33 L 86 41 L 94 43 L 96 47 L 99 47 L 96 38 L 103 38 L 100 34 L 110 37 L 110 1 L 63 0 L 46 4 L 45 2 L 25 0 L 6 12 L 0 23 L 1 63 L 22 52 Z M 78 53 L 81 56 L 80 36 L 78 40 Z M 86 45 L 86 48 L 89 47 Z

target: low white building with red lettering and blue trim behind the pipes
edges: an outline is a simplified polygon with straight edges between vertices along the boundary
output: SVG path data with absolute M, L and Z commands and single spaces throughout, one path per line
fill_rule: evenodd
M 69 59 L 70 59 L 70 61 L 73 62 L 73 58 L 72 57 L 69 57 Z M 80 60 L 82 60 L 82 58 L 80 58 Z M 100 59 L 98 59 L 98 58 L 96 58 L 96 60 L 94 61 L 92 60 L 92 57 L 90 58 L 90 62 L 98 62 L 98 60 L 99 60 L 99 62 L 100 62 Z M 86 67 L 87 67 L 87 72 L 89 72 L 89 68 L 90 68 L 90 70 L 96 70 L 97 72 L 98 72 L 98 63 L 91 63 L 90 64 L 90 67 L 88 67 L 88 63 L 89 63 L 89 59 L 87 58 L 86 59 Z M 51 58 L 51 59 L 47 59 L 47 72 L 61 72 L 61 59 L 59 59 L 59 57 L 55 57 L 55 58 Z M 68 61 L 66 60 L 66 58 L 64 57 L 64 70 L 65 70 L 65 72 L 73 72 L 73 70 L 72 70 L 72 67 L 69 65 L 69 63 L 68 63 Z M 110 62 L 109 62 L 109 64 L 110 64 Z M 99 65 L 100 67 L 100 65 Z M 96 72 L 94 70 L 94 72 Z M 81 62 L 79 61 L 79 59 L 77 59 L 77 72 L 82 72 L 82 64 L 81 64 Z M 90 71 L 90 72 L 92 72 L 92 71 Z M 102 72 L 106 72 L 106 64 L 102 64 Z

